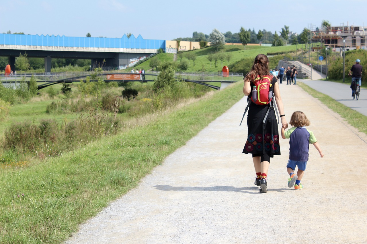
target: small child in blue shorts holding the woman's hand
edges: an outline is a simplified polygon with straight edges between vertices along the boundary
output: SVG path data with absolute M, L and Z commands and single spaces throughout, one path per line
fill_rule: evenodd
M 283 139 L 290 138 L 289 160 L 287 164 L 287 171 L 290 176 L 288 187 L 294 185 L 295 190 L 301 190 L 303 188 L 301 180 L 308 161 L 309 144 L 311 143 L 315 146 L 321 158 L 324 154 L 312 131 L 306 129 L 306 126 L 310 125 L 310 121 L 303 112 L 294 112 L 289 123 L 293 126 L 291 129 L 284 131 L 284 127 L 281 128 L 281 137 Z M 298 166 L 297 175 L 294 174 L 296 165 Z

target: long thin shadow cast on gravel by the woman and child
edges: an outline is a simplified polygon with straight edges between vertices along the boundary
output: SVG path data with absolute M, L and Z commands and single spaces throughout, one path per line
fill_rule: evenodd
M 242 192 L 249 194 L 258 194 L 259 188 L 257 186 L 252 187 L 233 187 L 233 186 L 209 186 L 209 187 L 193 187 L 193 186 L 170 186 L 170 185 L 155 185 L 156 189 L 161 191 L 212 191 L 212 192 Z M 268 191 L 284 192 L 284 190 L 291 190 L 287 188 L 283 189 L 268 189 Z

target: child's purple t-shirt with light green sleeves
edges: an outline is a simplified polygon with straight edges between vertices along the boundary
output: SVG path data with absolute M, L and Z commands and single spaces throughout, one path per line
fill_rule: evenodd
M 295 161 L 308 161 L 310 143 L 315 143 L 316 137 L 306 127 L 292 127 L 284 132 L 289 140 L 289 159 Z

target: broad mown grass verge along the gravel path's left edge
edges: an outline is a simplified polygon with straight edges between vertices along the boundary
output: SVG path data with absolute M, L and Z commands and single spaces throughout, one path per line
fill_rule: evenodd
M 61 243 L 242 97 L 237 82 L 62 157 L 2 170 L 0 243 Z

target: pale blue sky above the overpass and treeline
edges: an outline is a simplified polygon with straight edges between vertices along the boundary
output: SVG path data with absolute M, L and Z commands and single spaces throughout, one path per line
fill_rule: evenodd
M 118 38 L 132 33 L 173 40 L 214 28 L 238 33 L 241 26 L 279 33 L 284 25 L 301 33 L 323 20 L 332 26 L 367 26 L 357 11 L 366 5 L 366 0 L 0 0 L 0 33 Z

